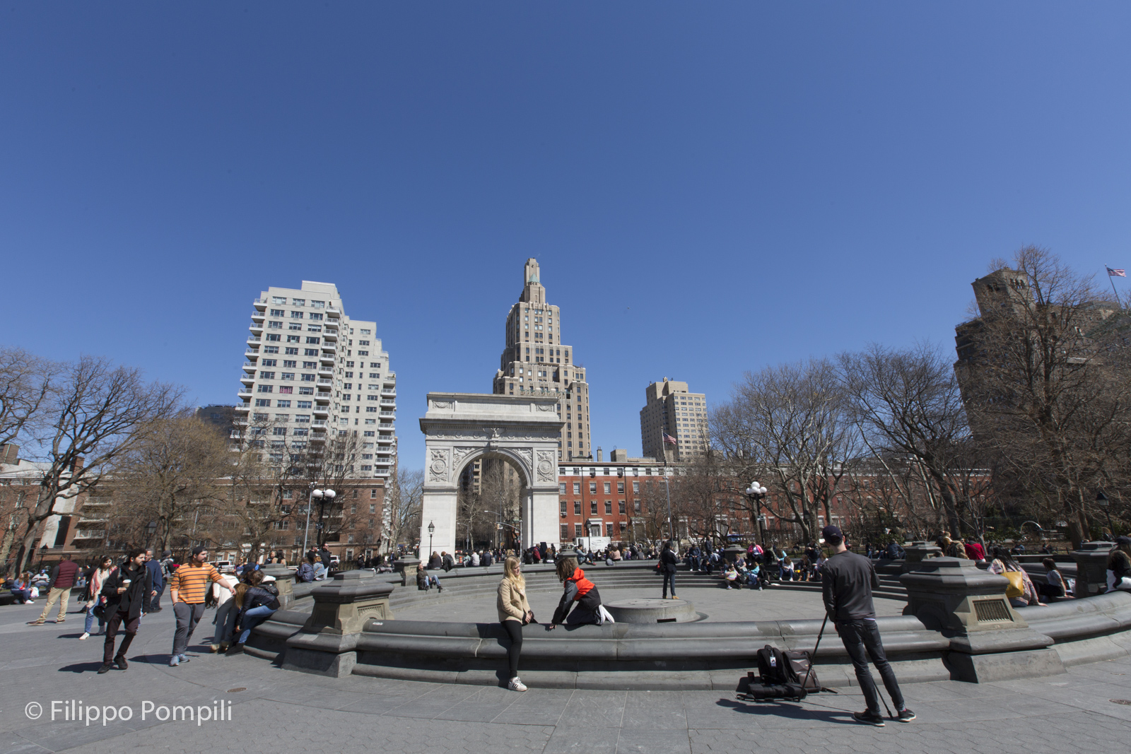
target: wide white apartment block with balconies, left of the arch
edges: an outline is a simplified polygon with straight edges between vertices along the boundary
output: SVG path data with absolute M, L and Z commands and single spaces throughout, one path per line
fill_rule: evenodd
M 351 478 L 388 477 L 397 460 L 397 375 L 377 324 L 351 319 L 331 283 L 270 287 L 251 303 L 236 430 L 269 424 L 268 449 L 352 432 Z

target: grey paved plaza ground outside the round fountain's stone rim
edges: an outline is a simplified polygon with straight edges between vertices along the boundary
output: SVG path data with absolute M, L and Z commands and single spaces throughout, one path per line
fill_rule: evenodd
M 625 590 L 631 591 L 631 590 Z M 766 595 L 724 597 L 758 599 Z M 778 599 L 779 596 L 771 599 Z M 173 618 L 147 616 L 130 669 L 96 675 L 98 638 L 78 641 L 81 616 L 28 626 L 42 607 L 0 608 L 3 679 L 0 752 L 927 752 L 994 754 L 1125 751 L 1131 738 L 1131 659 L 1077 666 L 1067 675 L 993 684 L 907 684 L 918 719 L 861 726 L 855 688 L 804 703 L 746 704 L 719 692 L 502 688 L 323 678 L 252 657 L 207 653 L 211 612 L 190 644 L 191 662 L 170 668 Z M 439 607 L 439 606 L 437 606 Z M 424 609 L 432 609 L 431 607 Z M 1131 640 L 1124 642 L 1131 647 Z M 128 707 L 132 719 L 51 721 L 52 701 Z M 218 709 L 231 720 L 155 719 L 146 704 Z M 42 717 L 28 712 L 42 705 Z M 31 709 L 28 709 L 31 707 Z M 57 708 L 59 709 L 59 708 Z M 225 708 L 226 709 L 226 708 Z M 123 711 L 121 713 L 126 716 Z

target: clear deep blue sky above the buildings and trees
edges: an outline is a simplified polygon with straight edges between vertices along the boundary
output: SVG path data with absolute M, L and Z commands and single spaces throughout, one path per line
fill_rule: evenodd
M 334 281 L 407 467 L 527 257 L 605 452 L 665 375 L 949 347 L 1022 244 L 1131 267 L 1125 2 L 0 8 L 0 341 L 234 402 L 256 295 Z

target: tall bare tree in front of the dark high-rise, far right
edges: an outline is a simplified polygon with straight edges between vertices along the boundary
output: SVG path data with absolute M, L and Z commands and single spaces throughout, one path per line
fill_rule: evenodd
M 1079 546 L 1095 489 L 1126 479 L 1125 313 L 1047 250 L 1026 246 L 979 281 L 958 328 L 958 375 L 998 492 L 1063 517 Z

